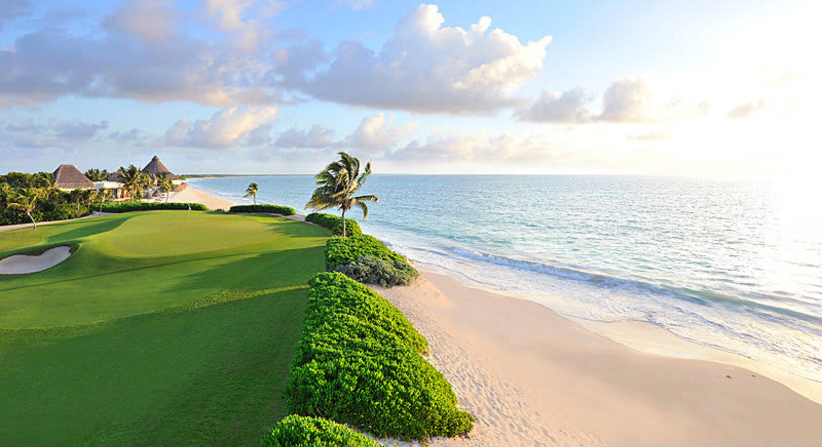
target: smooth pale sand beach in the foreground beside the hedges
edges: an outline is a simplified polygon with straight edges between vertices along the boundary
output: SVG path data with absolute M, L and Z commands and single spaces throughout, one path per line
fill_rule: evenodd
M 477 418 L 469 437 L 433 445 L 820 445 L 822 405 L 758 372 L 640 352 L 535 302 L 424 274 L 378 289 Z

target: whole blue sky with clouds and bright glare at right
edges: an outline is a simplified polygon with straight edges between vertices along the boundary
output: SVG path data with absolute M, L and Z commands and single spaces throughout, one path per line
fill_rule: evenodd
M 820 2 L 0 0 L 0 173 L 815 175 Z

